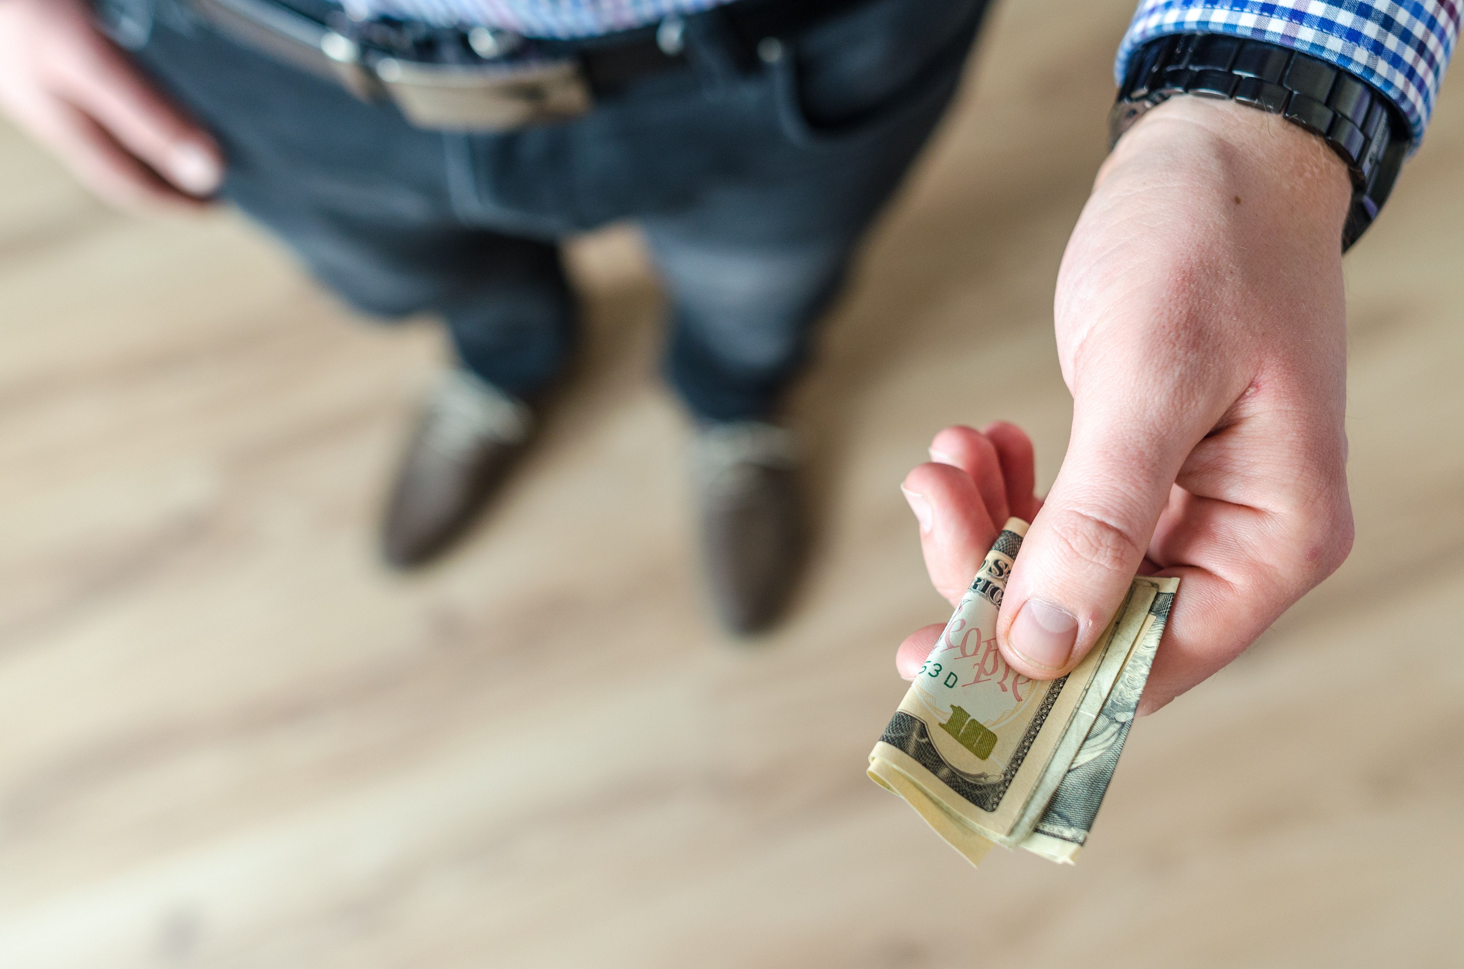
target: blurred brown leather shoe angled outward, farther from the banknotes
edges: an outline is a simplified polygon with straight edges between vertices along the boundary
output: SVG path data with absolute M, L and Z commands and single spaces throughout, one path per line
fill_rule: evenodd
M 382 521 L 391 565 L 426 562 L 452 543 L 502 482 L 533 429 L 529 407 L 467 370 L 452 370 L 407 442 Z

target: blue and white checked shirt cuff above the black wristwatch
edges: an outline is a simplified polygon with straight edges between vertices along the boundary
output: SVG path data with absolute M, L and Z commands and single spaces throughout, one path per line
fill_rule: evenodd
M 1140 0 L 1114 76 L 1167 34 L 1231 34 L 1282 44 L 1348 70 L 1388 95 L 1419 145 L 1460 32 L 1464 0 Z

